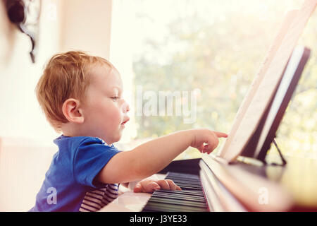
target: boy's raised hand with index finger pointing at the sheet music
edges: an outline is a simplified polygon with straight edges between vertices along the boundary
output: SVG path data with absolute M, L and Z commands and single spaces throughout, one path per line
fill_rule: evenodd
M 210 154 L 218 146 L 218 138 L 228 137 L 226 133 L 209 129 L 192 129 L 192 131 L 194 136 L 191 146 L 197 148 L 201 153 Z

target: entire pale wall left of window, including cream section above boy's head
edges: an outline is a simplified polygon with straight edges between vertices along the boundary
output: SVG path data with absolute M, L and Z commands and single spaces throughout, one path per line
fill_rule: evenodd
M 0 1 L 0 211 L 35 203 L 59 136 L 39 109 L 35 85 L 56 52 L 82 49 L 108 59 L 111 0 L 44 0 L 36 64 L 30 39 L 6 16 Z

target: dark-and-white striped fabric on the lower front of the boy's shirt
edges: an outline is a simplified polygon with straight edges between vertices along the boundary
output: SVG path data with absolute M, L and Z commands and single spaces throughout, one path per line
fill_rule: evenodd
M 111 203 L 118 197 L 118 184 L 107 184 L 104 188 L 87 192 L 82 205 L 80 206 L 80 212 L 95 212 Z

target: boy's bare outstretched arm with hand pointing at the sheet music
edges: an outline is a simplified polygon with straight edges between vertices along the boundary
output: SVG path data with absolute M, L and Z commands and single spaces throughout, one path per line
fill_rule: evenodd
M 133 150 L 114 155 L 101 169 L 97 178 L 99 182 L 105 184 L 144 179 L 166 167 L 189 146 L 203 153 L 211 153 L 218 145 L 218 137 L 226 136 L 225 133 L 213 132 L 209 129 L 178 131 L 161 136 Z

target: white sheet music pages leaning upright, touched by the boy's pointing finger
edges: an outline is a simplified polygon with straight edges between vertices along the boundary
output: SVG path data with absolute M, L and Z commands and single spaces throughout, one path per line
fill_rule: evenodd
M 254 79 L 235 117 L 219 156 L 232 162 L 240 155 L 256 130 L 274 91 L 282 78 L 288 59 L 292 54 L 307 20 L 316 8 L 317 0 L 306 0 L 299 11 L 287 14 L 278 35 L 271 45 L 259 73 Z

